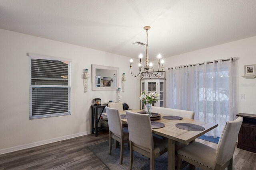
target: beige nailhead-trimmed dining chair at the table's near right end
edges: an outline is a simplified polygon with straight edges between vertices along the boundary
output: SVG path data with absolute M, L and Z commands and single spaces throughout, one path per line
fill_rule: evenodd
M 224 126 L 217 150 L 199 142 L 193 142 L 178 150 L 178 168 L 181 162 L 186 162 L 202 168 L 203 170 L 228 170 L 233 169 L 233 154 L 236 147 L 236 139 L 242 125 L 243 118 L 238 117 L 234 121 L 227 121 Z

